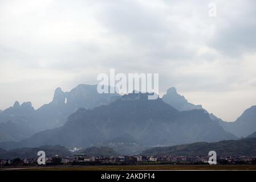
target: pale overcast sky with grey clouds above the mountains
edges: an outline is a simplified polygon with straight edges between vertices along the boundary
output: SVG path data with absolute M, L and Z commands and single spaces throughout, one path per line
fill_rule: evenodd
M 216 3 L 217 16 L 209 16 Z M 98 73 L 159 73 L 226 121 L 256 105 L 256 1 L 0 0 L 0 109 Z

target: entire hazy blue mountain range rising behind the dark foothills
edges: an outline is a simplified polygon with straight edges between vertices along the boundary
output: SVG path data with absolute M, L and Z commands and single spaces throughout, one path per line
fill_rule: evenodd
M 147 96 L 99 94 L 96 85 L 78 85 L 70 92 L 57 88 L 52 102 L 37 110 L 31 102 L 15 102 L 0 114 L 0 147 L 107 146 L 135 154 L 150 146 L 217 142 L 256 131 L 255 106 L 228 123 L 189 103 L 175 88 L 162 99 Z

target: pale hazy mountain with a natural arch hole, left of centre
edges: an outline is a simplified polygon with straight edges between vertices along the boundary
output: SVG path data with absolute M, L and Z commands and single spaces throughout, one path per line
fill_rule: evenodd
M 10 123 L 0 125 L 0 131 L 6 131 L 5 134 L 0 134 L 0 141 L 21 140 L 38 131 L 62 126 L 68 115 L 75 113 L 79 108 L 93 109 L 96 106 L 107 105 L 117 98 L 118 94 L 97 93 L 97 85 L 78 85 L 70 92 L 63 92 L 57 88 L 52 101 L 37 110 L 32 107 L 31 102 L 19 105 L 16 101 L 13 107 L 0 114 L 0 123 L 11 121 L 14 126 L 11 130 Z M 13 130 L 17 133 L 13 133 Z

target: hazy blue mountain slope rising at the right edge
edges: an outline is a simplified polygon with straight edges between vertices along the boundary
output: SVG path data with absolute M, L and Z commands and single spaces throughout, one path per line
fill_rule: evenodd
M 246 109 L 234 122 L 221 122 L 221 126 L 237 137 L 247 137 L 256 131 L 256 106 Z

